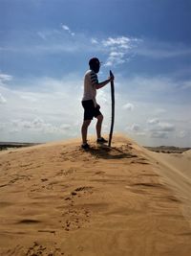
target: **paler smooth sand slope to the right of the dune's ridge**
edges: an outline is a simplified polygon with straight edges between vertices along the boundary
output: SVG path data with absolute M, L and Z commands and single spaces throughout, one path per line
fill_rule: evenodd
M 177 198 L 180 198 L 182 213 L 191 226 L 191 151 L 183 153 L 146 152 L 157 161 L 155 171 Z

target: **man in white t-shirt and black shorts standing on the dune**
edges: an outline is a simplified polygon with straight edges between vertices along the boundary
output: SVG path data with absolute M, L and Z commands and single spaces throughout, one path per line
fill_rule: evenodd
M 110 81 L 114 80 L 114 77 L 110 77 L 106 81 L 98 82 L 97 73 L 99 72 L 100 62 L 98 58 L 91 58 L 89 61 L 90 70 L 85 73 L 84 76 L 84 94 L 82 99 L 82 105 L 84 107 L 84 121 L 81 127 L 82 135 L 82 149 L 89 149 L 90 146 L 87 143 L 87 133 L 88 127 L 91 121 L 96 117 L 96 136 L 97 143 L 107 142 L 103 137 L 101 137 L 101 125 L 103 121 L 103 115 L 100 112 L 100 106 L 96 103 L 96 90 L 102 88 Z

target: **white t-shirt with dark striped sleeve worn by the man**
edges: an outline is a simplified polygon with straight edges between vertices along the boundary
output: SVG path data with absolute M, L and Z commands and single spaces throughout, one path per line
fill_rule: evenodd
M 93 100 L 96 107 L 96 86 L 98 83 L 97 75 L 95 71 L 88 70 L 84 76 L 84 94 L 82 101 Z

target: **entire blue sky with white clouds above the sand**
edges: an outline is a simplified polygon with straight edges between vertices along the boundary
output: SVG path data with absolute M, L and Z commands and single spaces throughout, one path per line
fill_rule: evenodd
M 190 0 L 0 0 L 0 141 L 80 137 L 96 56 L 99 81 L 116 77 L 116 132 L 191 147 L 190 12 Z M 109 85 L 97 102 L 107 134 Z

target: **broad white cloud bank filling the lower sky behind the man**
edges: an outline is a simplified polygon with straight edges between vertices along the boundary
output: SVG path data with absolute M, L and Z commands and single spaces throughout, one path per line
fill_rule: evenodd
M 0 86 L 2 96 L 7 100 L 0 111 L 1 141 L 43 142 L 80 137 L 82 78 L 80 80 L 78 75 L 71 74 L 63 79 L 45 77 L 26 80 L 22 81 L 23 86 L 20 82 L 11 81 L 15 86 L 9 86 L 11 76 L 7 76 L 9 79 Z M 141 145 L 155 146 L 161 141 L 165 145 L 174 145 L 176 138 L 180 146 L 189 146 L 191 119 L 187 109 L 190 105 L 169 104 L 171 94 L 168 91 L 173 81 L 140 77 L 123 80 L 118 74 L 116 78 L 115 132 L 128 132 Z M 159 84 L 162 95 L 168 94 L 166 103 L 163 98 L 159 102 L 148 100 L 148 96 L 153 100 L 155 94 L 159 97 Z M 110 87 L 97 91 L 97 102 L 104 115 L 103 132 L 107 134 L 111 124 Z M 160 111 L 157 113 L 157 110 Z M 96 120 L 91 124 L 90 134 L 96 132 L 94 123 Z

